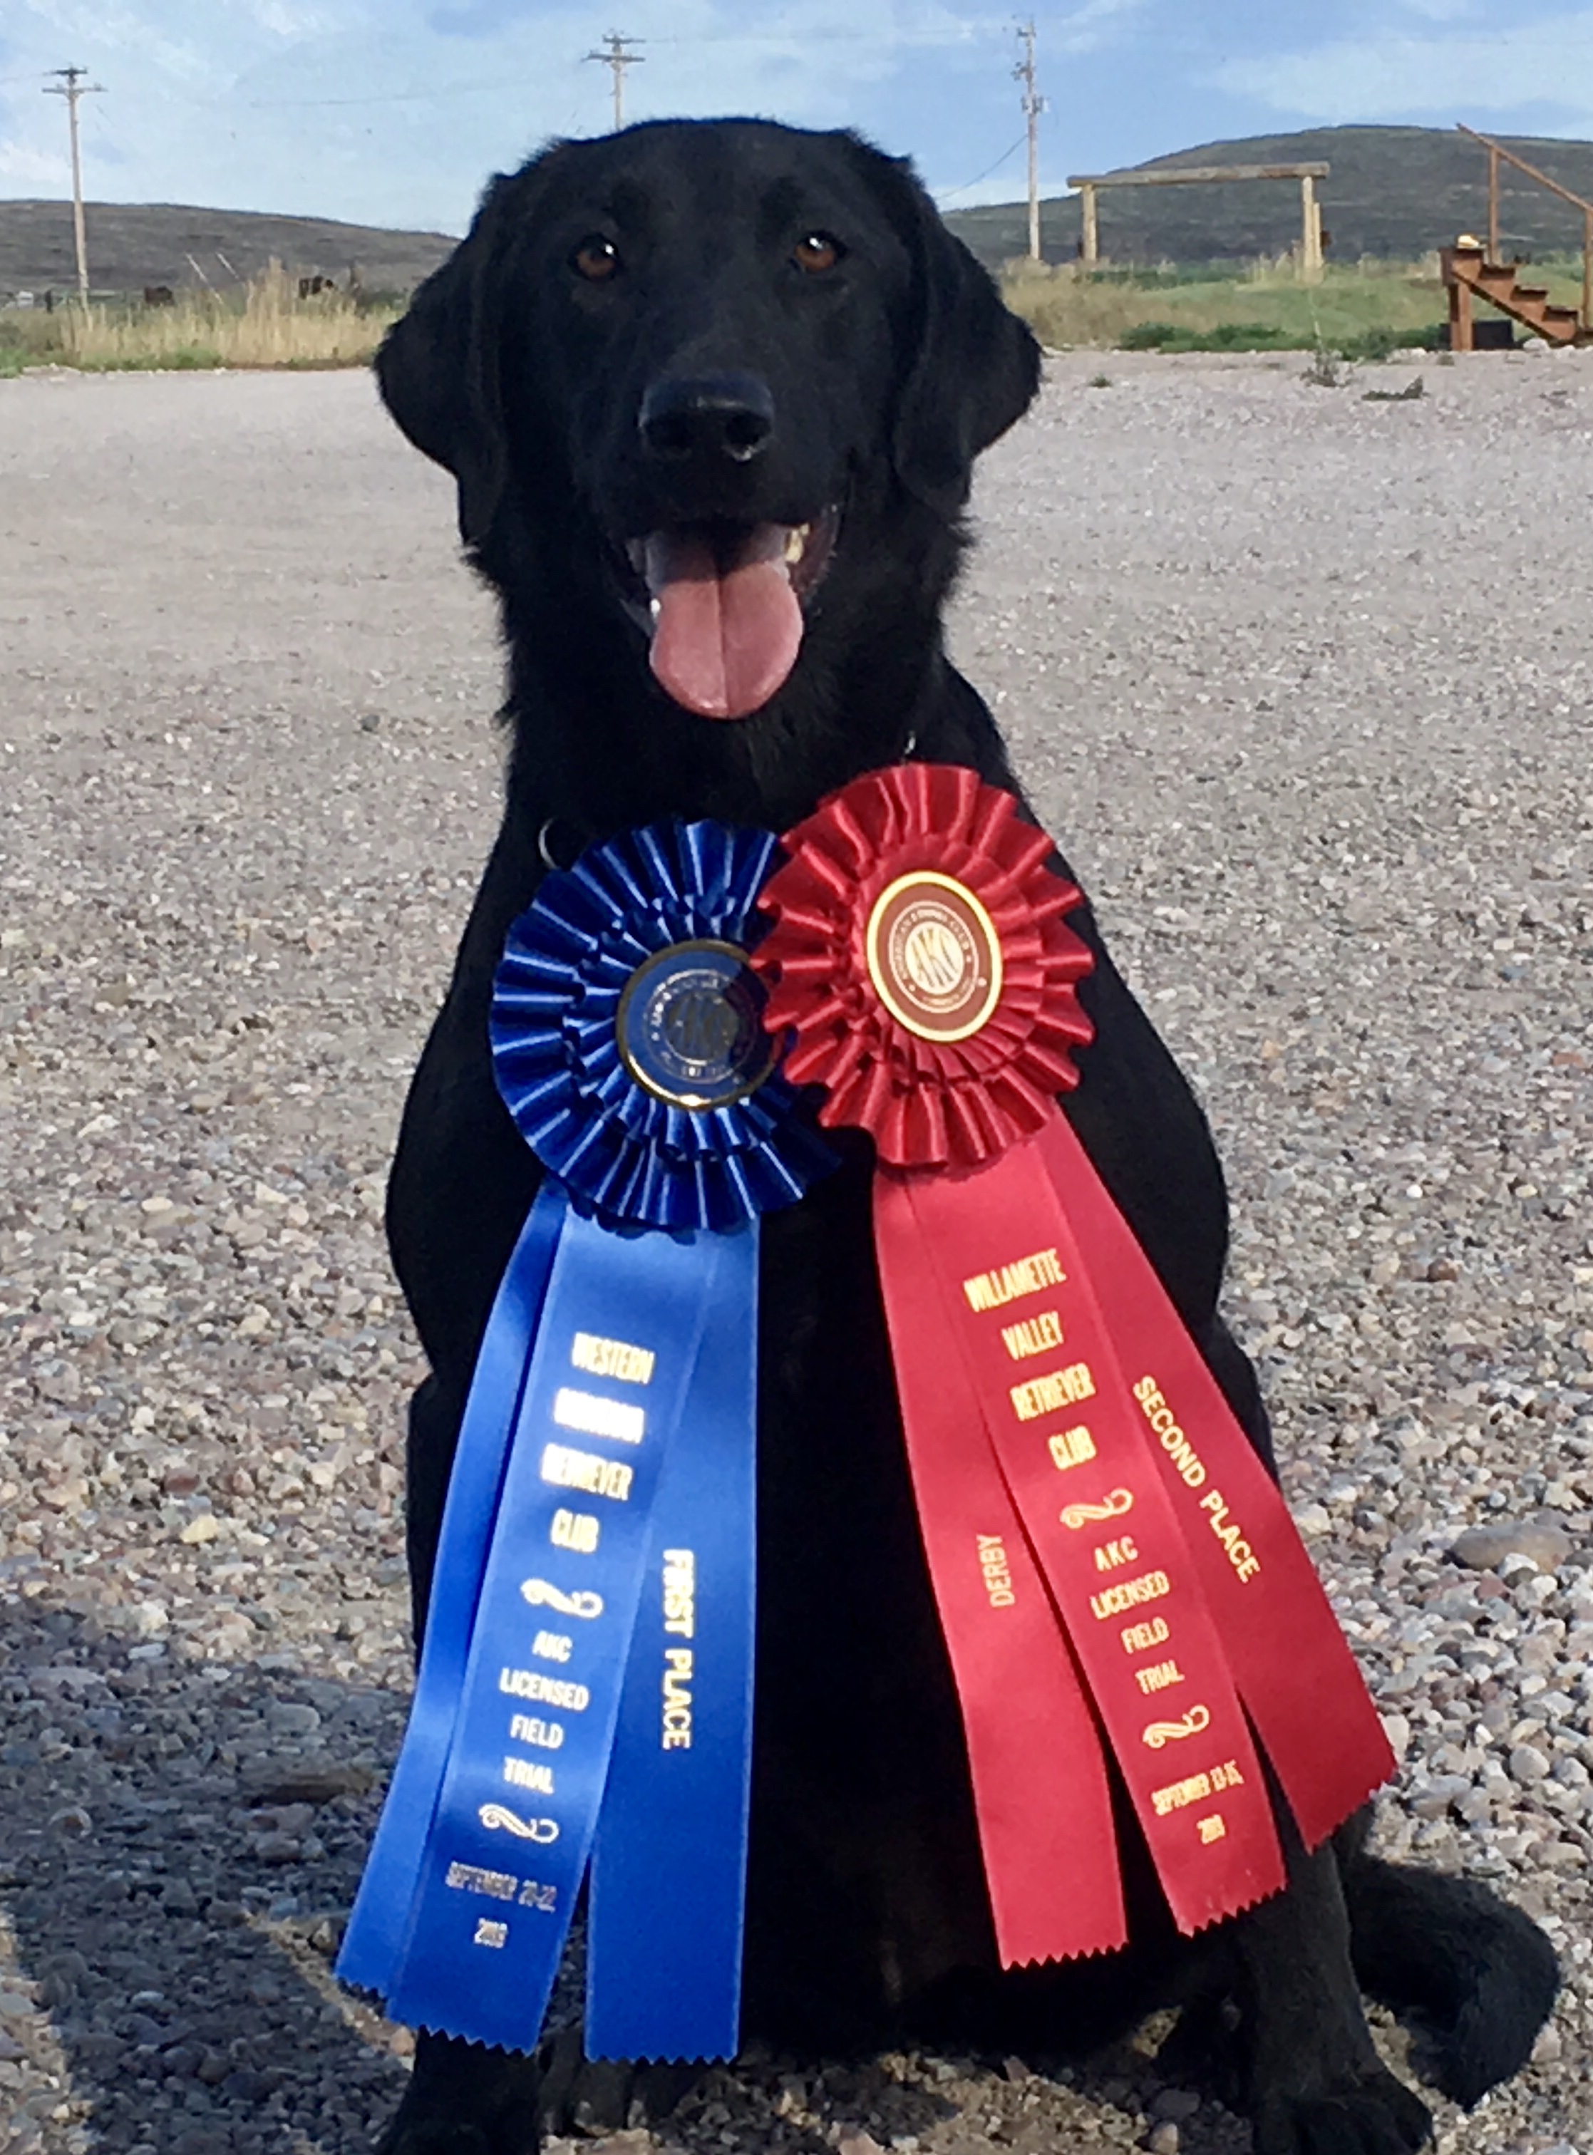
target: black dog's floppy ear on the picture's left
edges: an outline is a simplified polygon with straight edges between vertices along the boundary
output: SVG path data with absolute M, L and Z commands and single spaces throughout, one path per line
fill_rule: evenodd
M 459 537 L 479 552 L 507 478 L 500 390 L 509 211 L 524 175 L 498 177 L 468 235 L 420 284 L 377 351 L 382 401 L 414 446 L 459 483 Z

